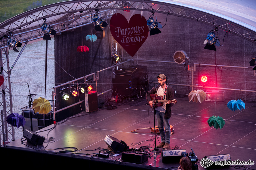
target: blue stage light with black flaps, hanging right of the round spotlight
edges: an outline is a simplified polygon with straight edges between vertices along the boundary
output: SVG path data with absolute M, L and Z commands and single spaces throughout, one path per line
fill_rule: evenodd
M 214 50 L 216 51 L 216 47 L 215 46 L 220 46 L 220 42 L 218 40 L 218 36 L 215 34 L 217 33 L 218 28 L 214 27 L 214 30 L 211 30 L 211 32 L 209 32 L 207 34 L 207 38 L 206 40 L 204 40 L 204 44 L 206 44 L 204 46 L 204 49 L 209 49 L 209 50 Z

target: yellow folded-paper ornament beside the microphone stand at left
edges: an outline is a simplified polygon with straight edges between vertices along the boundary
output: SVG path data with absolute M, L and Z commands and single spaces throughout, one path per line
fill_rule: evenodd
M 38 97 L 33 101 L 32 109 L 35 109 L 35 112 L 39 112 L 40 114 L 47 114 L 51 111 L 52 106 L 48 100 Z

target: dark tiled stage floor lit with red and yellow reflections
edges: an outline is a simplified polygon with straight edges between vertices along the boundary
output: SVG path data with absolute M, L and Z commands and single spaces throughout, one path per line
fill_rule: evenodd
M 177 104 L 172 107 L 170 124 L 174 133 L 171 135 L 170 148 L 186 149 L 186 152 L 195 152 L 199 161 L 199 169 L 205 169 L 200 165 L 204 156 L 230 154 L 231 160 L 252 160 L 256 163 L 256 103 L 245 102 L 242 111 L 231 111 L 226 106 L 227 102 L 204 101 L 202 103 L 189 102 L 187 97 L 177 98 Z M 154 133 L 150 129 L 154 127 L 154 114 L 146 104 L 145 98 L 117 106 L 117 109 L 99 109 L 96 112 L 83 112 L 74 115 L 56 125 L 39 130 L 37 133 L 46 138 L 43 145 L 38 148 L 46 153 L 60 152 L 61 155 L 83 159 L 100 159 L 113 161 L 123 165 L 133 165 L 146 169 L 177 169 L 178 161 L 163 163 L 161 151 L 157 160 L 153 156 L 141 164 L 122 162 L 121 155 L 114 156 L 104 139 L 107 135 L 124 141 L 129 147 L 150 151 L 155 147 Z M 78 111 L 79 112 L 79 111 Z M 207 120 L 213 116 L 221 116 L 226 124 L 220 129 L 209 127 Z M 133 130 L 136 132 L 131 132 Z M 160 142 L 157 135 L 156 144 Z M 20 140 L 13 141 L 7 148 L 22 150 L 40 150 L 31 143 Z M 36 149 L 33 149 L 36 148 Z M 65 148 L 61 149 L 61 148 Z M 77 149 L 76 151 L 73 151 Z M 109 154 L 109 158 L 95 156 L 99 151 Z M 64 153 L 70 151 L 70 153 Z M 256 169 L 256 165 L 246 165 L 247 168 Z M 232 166 L 219 167 L 218 169 L 235 169 Z

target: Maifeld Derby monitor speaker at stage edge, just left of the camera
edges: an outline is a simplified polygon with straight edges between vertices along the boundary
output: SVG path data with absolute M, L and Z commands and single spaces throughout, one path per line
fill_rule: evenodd
M 163 150 L 161 152 L 162 162 L 180 162 L 180 158 L 182 157 L 182 152 L 186 153 L 186 149 L 172 149 L 172 150 Z

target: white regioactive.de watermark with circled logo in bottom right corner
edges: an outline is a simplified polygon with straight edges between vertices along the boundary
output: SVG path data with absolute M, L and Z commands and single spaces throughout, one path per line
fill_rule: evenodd
M 220 165 L 220 166 L 225 166 L 225 165 L 254 165 L 254 161 L 252 160 L 248 160 L 248 161 L 240 161 L 240 160 L 221 160 L 221 161 L 218 161 L 216 160 L 215 162 L 213 162 L 212 160 L 209 160 L 208 158 L 203 158 L 201 159 L 200 161 L 201 163 L 201 166 L 204 167 L 204 168 L 207 168 L 213 164 L 215 165 Z

